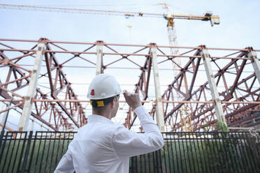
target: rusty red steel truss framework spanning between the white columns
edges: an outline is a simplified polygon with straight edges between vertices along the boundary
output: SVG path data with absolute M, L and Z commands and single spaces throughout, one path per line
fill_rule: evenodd
M 86 96 L 76 94 L 78 88 L 73 89 L 73 83 L 74 78 L 80 76 L 89 81 L 94 77 L 97 54 L 94 49 L 98 44 L 103 45 L 101 73 L 117 70 L 116 74 L 136 77 L 137 83 L 132 84 L 132 89 L 140 94 L 143 105 L 156 119 L 156 99 L 153 80 L 151 81 L 151 44 L 122 45 L 102 41 L 76 43 L 46 38 L 0 39 L 1 101 L 10 101 L 8 92 L 13 93 L 15 99 L 12 108 L 23 109 L 38 43 L 45 43 L 46 50 L 43 51 L 42 68 L 32 100 L 31 116 L 37 121 L 52 130 L 76 129 L 87 123 L 86 110 L 89 100 Z M 250 127 L 260 124 L 260 84 L 252 68 L 252 58 L 248 57 L 250 52 L 260 50 L 253 50 L 252 47 L 178 47 L 180 54 L 172 55 L 169 53 L 170 48 L 157 46 L 160 80 L 169 81 L 168 84 L 161 85 L 166 130 L 183 131 L 184 126 L 189 126 L 189 129 L 194 131 L 216 129 L 215 103 L 212 101 L 208 80 L 205 77 L 202 49 L 207 49 L 210 53 L 210 63 L 228 126 Z M 177 58 L 181 59 L 182 64 L 176 64 L 178 69 L 175 70 L 178 70 L 178 75 L 173 75 L 171 66 Z M 77 72 L 68 68 L 74 68 Z M 80 69 L 85 69 L 84 73 L 78 73 Z M 134 70 L 135 73 L 128 73 L 126 70 Z M 138 75 L 135 75 L 136 72 Z M 67 77 L 69 73 L 72 75 Z M 124 83 L 121 84 L 124 86 Z M 87 87 L 85 95 L 86 93 Z M 127 107 L 124 100 L 121 99 L 120 102 L 119 114 L 124 114 L 124 126 L 138 126 L 133 110 Z M 0 111 L 3 112 L 6 110 Z

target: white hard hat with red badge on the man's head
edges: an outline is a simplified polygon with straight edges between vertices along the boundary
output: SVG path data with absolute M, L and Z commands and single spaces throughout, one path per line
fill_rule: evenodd
M 122 93 L 120 84 L 118 84 L 115 77 L 108 74 L 101 74 L 94 77 L 89 84 L 87 98 L 90 100 L 102 100 L 117 96 L 120 93 Z

